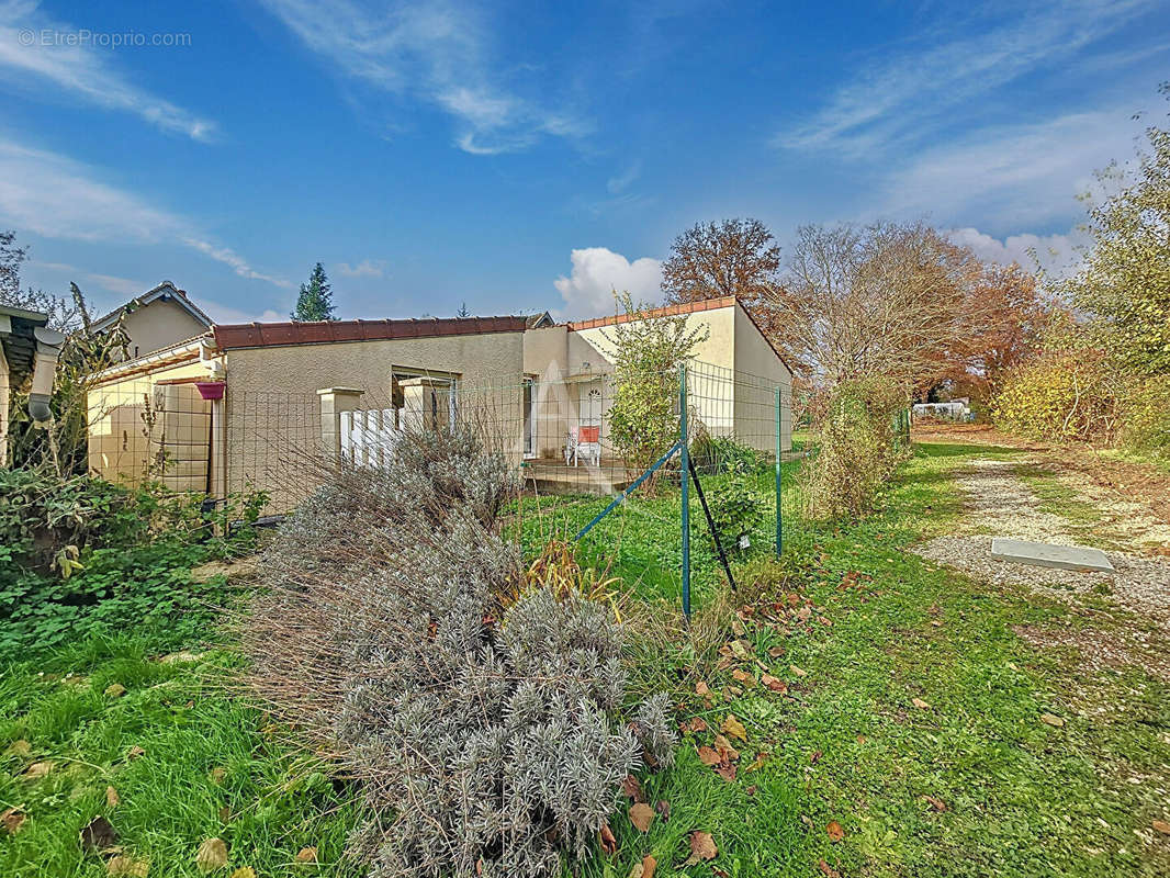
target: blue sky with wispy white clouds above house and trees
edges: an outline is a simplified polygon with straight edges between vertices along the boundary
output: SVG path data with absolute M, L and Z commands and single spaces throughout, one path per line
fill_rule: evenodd
M 1151 0 L 0 0 L 0 226 L 97 308 L 597 315 L 724 217 L 1067 252 L 1168 71 Z

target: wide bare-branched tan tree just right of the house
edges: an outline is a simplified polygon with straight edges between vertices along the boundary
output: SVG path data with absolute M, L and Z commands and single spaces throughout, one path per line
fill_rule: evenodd
M 804 226 L 764 306 L 813 386 L 882 376 L 913 393 L 962 331 L 975 255 L 921 222 Z

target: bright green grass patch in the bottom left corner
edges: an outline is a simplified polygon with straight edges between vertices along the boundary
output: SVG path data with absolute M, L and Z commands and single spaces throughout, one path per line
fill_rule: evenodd
M 316 848 L 322 873 L 346 873 L 349 790 L 222 691 L 227 653 L 160 661 L 151 646 L 95 639 L 4 670 L 0 808 L 26 819 L 0 841 L 0 874 L 106 874 L 109 857 L 78 842 L 95 817 L 109 821 L 128 857 L 149 860 L 152 877 L 200 874 L 195 852 L 208 838 L 227 843 L 232 870 L 303 876 L 295 857 Z M 125 694 L 106 694 L 115 684 Z M 48 774 L 30 778 L 34 764 Z

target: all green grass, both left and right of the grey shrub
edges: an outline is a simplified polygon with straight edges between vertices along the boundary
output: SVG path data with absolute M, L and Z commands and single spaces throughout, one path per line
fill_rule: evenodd
M 680 721 L 700 716 L 710 730 L 689 733 L 676 767 L 642 780 L 652 802 L 669 803 L 669 819 L 644 835 L 615 816 L 618 853 L 584 874 L 626 878 L 646 853 L 658 876 L 1170 873 L 1170 837 L 1150 829 L 1170 819 L 1166 685 L 1141 668 L 1083 670 L 1075 652 L 1041 652 L 1012 630 L 1104 624 L 1089 608 L 976 584 L 907 551 L 954 527 L 950 474 L 973 455 L 1014 452 L 920 445 L 883 509 L 845 527 L 801 522 L 799 464 L 785 465 L 783 561 L 769 560 L 765 517 L 736 562 L 753 610 L 742 633 L 728 616 L 714 643 L 634 644 L 636 687 L 669 688 Z M 759 483 L 768 492 L 772 476 Z M 572 535 L 603 506 L 528 499 L 509 526 L 531 550 Z M 585 543 L 660 618 L 677 613 L 679 513 L 677 492 L 665 491 L 622 507 Z M 693 516 L 702 611 L 722 575 L 697 500 Z M 808 605 L 807 623 L 762 618 L 790 596 L 794 610 Z M 717 667 L 716 649 L 734 638 L 751 659 Z M 105 874 L 78 844 L 96 816 L 128 853 L 149 858 L 152 877 L 198 874 L 195 850 L 209 837 L 228 843 L 232 870 L 252 866 L 261 878 L 353 871 L 340 859 L 359 819 L 352 788 L 294 755 L 282 729 L 225 691 L 229 652 L 190 647 L 197 663 L 163 663 L 150 638 L 126 633 L 2 668 L 0 810 L 20 808 L 27 819 L 15 835 L 0 829 L 0 874 Z M 737 668 L 758 678 L 757 661 L 787 695 L 734 679 Z M 709 704 L 695 694 L 700 681 Z M 115 682 L 124 695 L 105 694 Z M 696 754 L 729 713 L 746 730 L 746 742 L 732 739 L 741 756 L 730 781 Z M 144 753 L 131 759 L 132 747 Z M 51 770 L 26 776 L 36 762 Z M 684 866 L 694 830 L 713 835 L 718 856 Z M 307 846 L 317 848 L 316 870 L 294 862 Z

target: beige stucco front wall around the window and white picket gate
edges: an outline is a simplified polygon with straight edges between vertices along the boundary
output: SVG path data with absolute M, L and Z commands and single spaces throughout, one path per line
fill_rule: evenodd
M 395 369 L 456 376 L 462 417 L 517 462 L 522 455 L 522 332 L 236 349 L 226 365 L 228 487 L 268 491 L 269 512 L 285 512 L 312 488 L 317 391 L 355 387 L 364 391 L 357 407 L 387 409 Z

